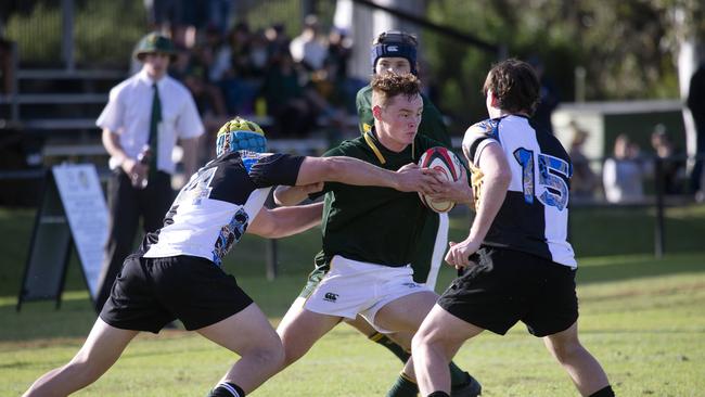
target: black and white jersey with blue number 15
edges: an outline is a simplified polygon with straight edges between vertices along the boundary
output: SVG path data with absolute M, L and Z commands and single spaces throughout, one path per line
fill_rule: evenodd
M 476 206 L 483 200 L 479 157 L 492 142 L 501 145 L 512 181 L 484 244 L 577 267 L 566 240 L 573 165 L 561 142 L 549 132 L 536 131 L 528 118 L 517 115 L 486 119 L 470 127 L 463 148 L 470 157 Z

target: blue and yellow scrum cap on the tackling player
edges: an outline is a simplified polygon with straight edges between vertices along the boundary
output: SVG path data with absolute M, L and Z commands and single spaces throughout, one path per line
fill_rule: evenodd
M 220 127 L 216 138 L 216 156 L 234 151 L 267 151 L 265 131 L 257 123 L 235 117 Z

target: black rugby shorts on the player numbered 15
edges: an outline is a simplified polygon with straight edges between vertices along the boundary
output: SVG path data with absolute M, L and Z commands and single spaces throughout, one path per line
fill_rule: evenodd
M 575 269 L 518 251 L 484 246 L 477 253 L 477 266 L 438 299 L 446 311 L 500 335 L 517 321 L 533 335 L 552 335 L 578 319 Z

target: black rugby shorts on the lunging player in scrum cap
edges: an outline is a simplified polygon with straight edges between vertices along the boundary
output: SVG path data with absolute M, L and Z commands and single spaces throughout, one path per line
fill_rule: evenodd
M 136 331 L 158 333 L 178 319 L 197 330 L 242 311 L 253 303 L 235 278 L 194 256 L 125 259 L 100 318 Z

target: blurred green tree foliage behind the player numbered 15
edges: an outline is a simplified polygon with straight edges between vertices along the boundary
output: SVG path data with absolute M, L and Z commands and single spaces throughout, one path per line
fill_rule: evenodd
M 575 97 L 576 67 L 585 68 L 585 98 L 597 101 L 678 98 L 678 43 L 704 37 L 704 11 L 702 0 L 438 0 L 427 13 L 505 46 L 509 56 L 538 56 L 564 101 Z M 497 55 L 438 34 L 423 39 L 444 111 L 462 124 L 482 117 L 477 92 Z

